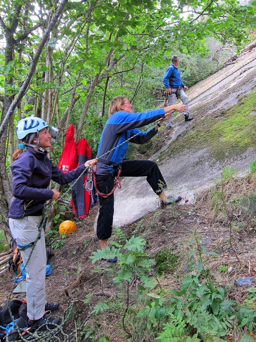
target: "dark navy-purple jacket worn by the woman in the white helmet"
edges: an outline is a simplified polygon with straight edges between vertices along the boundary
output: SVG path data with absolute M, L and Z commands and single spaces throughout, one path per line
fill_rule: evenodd
M 51 199 L 53 192 L 47 187 L 51 179 L 59 184 L 67 184 L 84 171 L 84 164 L 76 170 L 63 173 L 47 157 L 47 152 L 28 147 L 12 165 L 13 197 L 9 206 L 9 217 L 21 218 L 39 214 L 45 201 Z

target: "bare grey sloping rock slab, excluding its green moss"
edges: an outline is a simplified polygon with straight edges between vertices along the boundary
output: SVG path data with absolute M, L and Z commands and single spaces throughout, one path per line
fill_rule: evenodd
M 177 137 L 176 143 L 180 139 L 184 143 L 186 134 L 191 133 L 193 128 L 198 128 L 205 118 L 207 119 L 218 110 L 228 110 L 241 97 L 256 92 L 256 88 L 254 91 L 255 85 L 256 48 L 252 47 L 241 53 L 233 64 L 227 65 L 187 91 L 194 120 L 184 122 L 183 116 L 177 115 L 172 136 L 168 136 L 169 140 L 160 152 L 171 150 L 171 143 Z M 256 116 L 256 112 L 251 112 L 250 115 Z M 225 160 L 225 166 L 233 166 L 240 174 L 243 174 L 254 158 L 255 151 L 256 145 L 251 146 L 242 154 L 238 153 L 233 158 Z M 205 146 L 197 146 L 197 148 L 187 146 L 186 149 L 171 157 L 162 158 L 162 162 L 158 161 L 159 151 L 151 158 L 158 162 L 166 183 L 170 185 L 167 194 L 183 197 L 183 200 L 179 202 L 180 205 L 184 204 L 185 200 L 192 201 L 196 192 L 209 187 L 211 179 L 220 176 L 223 164 L 216 160 L 206 161 L 207 153 L 208 148 Z M 151 190 L 145 177 L 126 177 L 122 179 L 121 184 L 122 188 L 115 192 L 114 226 L 121 227 L 131 223 L 157 208 L 158 197 Z

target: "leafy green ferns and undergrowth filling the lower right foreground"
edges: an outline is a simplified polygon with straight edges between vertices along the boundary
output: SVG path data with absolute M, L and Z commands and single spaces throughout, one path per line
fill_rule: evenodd
M 250 338 L 255 331 L 256 289 L 248 290 L 242 304 L 231 300 L 232 287 L 218 286 L 204 264 L 205 256 L 209 258 L 216 253 L 207 251 L 199 240 L 195 231 L 191 241 L 195 249 L 189 255 L 187 271 L 190 274 L 181 280 L 179 289 L 171 290 L 162 288 L 153 277 L 154 261 L 143 252 L 145 240 L 141 237 L 132 236 L 124 245 L 115 242 L 115 246 L 93 252 L 93 262 L 118 256 L 118 263 L 111 272 L 120 289 L 116 298 L 98 302 L 93 314 L 121 312 L 122 328 L 129 342 L 144 341 L 145 336 L 148 342 L 235 342 L 230 338 L 234 321 L 241 341 L 253 342 Z M 137 299 L 131 304 L 134 283 L 137 284 Z M 125 303 L 123 298 L 126 298 Z M 142 324 L 139 328 L 138 321 Z

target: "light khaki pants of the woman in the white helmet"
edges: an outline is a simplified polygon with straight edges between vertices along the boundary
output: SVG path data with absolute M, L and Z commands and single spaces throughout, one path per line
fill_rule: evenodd
M 10 218 L 11 233 L 18 245 L 27 245 L 36 240 L 42 216 Z M 33 252 L 30 256 L 30 253 Z M 26 269 L 27 315 L 30 320 L 39 320 L 44 315 L 46 250 L 43 229 L 36 245 L 21 251 Z M 29 257 L 30 256 L 30 257 Z

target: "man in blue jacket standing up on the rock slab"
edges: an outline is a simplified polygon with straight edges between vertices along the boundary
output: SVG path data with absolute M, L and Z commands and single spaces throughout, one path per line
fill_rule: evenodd
M 180 72 L 178 70 L 178 64 L 179 59 L 178 56 L 172 57 L 172 64 L 168 67 L 166 70 L 164 76 L 163 76 L 163 84 L 166 87 L 166 93 L 168 96 L 168 105 L 174 105 L 176 98 L 180 99 L 183 104 L 186 106 L 186 109 L 184 111 L 184 119 L 185 121 L 193 120 L 191 116 L 189 116 L 189 105 L 188 105 L 188 97 L 185 93 L 185 90 L 187 90 L 187 86 L 184 85 L 184 83 L 181 81 L 180 78 Z M 166 128 L 170 129 L 172 128 L 172 121 L 173 117 L 166 121 Z

